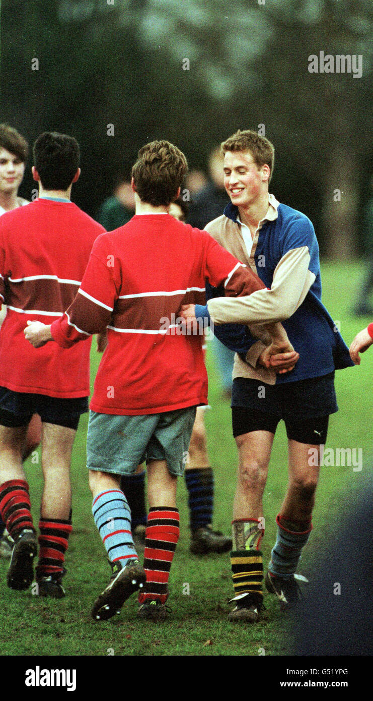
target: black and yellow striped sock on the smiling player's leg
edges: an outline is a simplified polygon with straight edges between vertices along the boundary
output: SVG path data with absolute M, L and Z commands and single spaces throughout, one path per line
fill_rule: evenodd
M 230 554 L 234 597 L 258 594 L 263 597 L 263 557 L 260 550 L 232 550 Z

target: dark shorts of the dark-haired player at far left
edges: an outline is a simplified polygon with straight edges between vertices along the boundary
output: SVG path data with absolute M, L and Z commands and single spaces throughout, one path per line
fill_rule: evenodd
M 28 426 L 33 414 L 41 421 L 66 428 L 78 428 L 80 414 L 88 411 L 88 397 L 59 399 L 47 395 L 13 392 L 0 387 L 0 425 L 17 428 Z

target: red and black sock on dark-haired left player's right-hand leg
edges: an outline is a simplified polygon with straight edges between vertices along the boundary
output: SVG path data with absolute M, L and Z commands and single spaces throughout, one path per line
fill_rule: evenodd
M 64 572 L 65 552 L 72 531 L 71 520 L 41 518 L 39 529 L 40 550 L 36 566 L 37 580 L 41 577 L 49 577 L 51 574 Z

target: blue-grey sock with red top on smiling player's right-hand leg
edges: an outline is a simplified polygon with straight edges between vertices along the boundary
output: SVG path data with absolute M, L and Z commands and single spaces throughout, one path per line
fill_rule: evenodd
M 293 577 L 302 548 L 309 539 L 312 524 L 302 524 L 302 531 L 293 531 L 287 528 L 288 522 L 279 514 L 276 518 L 277 538 L 271 552 L 269 561 L 269 574 L 277 577 Z M 294 524 L 291 524 L 294 526 Z

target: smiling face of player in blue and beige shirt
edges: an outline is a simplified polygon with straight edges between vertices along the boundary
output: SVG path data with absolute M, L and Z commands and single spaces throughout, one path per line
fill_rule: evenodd
M 268 192 L 268 165 L 256 165 L 250 151 L 227 151 L 224 156 L 224 186 L 237 207 L 249 207 Z

